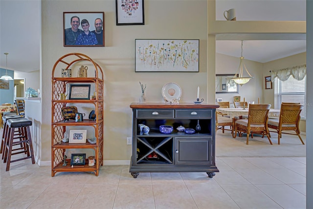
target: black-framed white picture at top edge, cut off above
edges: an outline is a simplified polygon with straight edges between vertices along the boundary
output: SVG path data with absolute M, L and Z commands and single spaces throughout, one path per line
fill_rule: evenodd
M 144 25 L 143 0 L 115 0 L 116 25 Z

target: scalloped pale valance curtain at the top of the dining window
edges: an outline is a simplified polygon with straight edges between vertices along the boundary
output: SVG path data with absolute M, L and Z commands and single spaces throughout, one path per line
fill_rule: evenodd
M 307 65 L 303 64 L 279 70 L 271 70 L 271 80 L 274 81 L 274 79 L 277 77 L 281 81 L 286 81 L 292 75 L 294 79 L 301 81 L 304 79 L 306 74 Z

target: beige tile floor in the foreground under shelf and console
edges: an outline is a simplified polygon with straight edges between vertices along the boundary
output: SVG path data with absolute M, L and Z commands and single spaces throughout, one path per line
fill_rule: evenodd
M 2 161 L 3 162 L 3 161 Z M 305 209 L 304 157 L 219 157 L 206 173 L 140 173 L 103 166 L 99 176 L 57 173 L 31 160 L 0 163 L 1 209 Z

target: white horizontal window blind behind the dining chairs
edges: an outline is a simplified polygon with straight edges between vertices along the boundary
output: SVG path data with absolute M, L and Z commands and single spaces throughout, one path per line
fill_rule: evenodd
M 300 103 L 303 109 L 300 113 L 302 119 L 306 119 L 307 113 L 307 96 L 306 85 L 307 76 L 303 80 L 298 81 L 290 76 L 286 81 L 278 78 L 274 80 L 274 106 L 280 109 L 282 103 Z

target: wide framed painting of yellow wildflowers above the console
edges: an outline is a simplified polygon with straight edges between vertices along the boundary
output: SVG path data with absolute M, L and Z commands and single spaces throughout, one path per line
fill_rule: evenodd
M 136 39 L 135 72 L 199 72 L 199 39 Z

